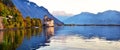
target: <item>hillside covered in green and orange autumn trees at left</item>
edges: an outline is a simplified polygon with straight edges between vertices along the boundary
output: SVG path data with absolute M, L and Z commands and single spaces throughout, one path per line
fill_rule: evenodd
M 38 18 L 30 18 L 29 16 L 24 18 L 12 1 L 0 0 L 0 29 L 42 26 L 41 20 Z

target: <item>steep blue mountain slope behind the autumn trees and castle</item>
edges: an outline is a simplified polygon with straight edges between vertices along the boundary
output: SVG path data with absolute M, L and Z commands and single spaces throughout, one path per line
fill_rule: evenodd
M 30 16 L 31 18 L 40 18 L 43 20 L 44 16 L 47 15 L 49 18 L 54 19 L 55 24 L 63 24 L 61 21 L 53 17 L 46 8 L 38 6 L 28 0 L 12 0 L 15 6 L 20 10 L 23 17 Z

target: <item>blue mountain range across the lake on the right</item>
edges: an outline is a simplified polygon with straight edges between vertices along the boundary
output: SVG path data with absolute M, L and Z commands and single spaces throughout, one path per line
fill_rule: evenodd
M 120 12 L 115 10 L 107 10 L 93 14 L 82 12 L 64 20 L 65 24 L 120 24 Z

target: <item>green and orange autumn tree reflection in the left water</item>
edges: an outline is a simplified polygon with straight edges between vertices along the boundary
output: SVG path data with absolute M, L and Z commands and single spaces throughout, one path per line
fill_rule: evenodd
M 19 29 L 0 31 L 0 50 L 16 50 L 23 42 L 24 38 L 40 35 L 42 29 Z

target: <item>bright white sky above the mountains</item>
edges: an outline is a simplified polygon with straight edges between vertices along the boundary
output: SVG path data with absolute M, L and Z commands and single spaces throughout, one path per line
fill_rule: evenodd
M 81 12 L 120 11 L 120 0 L 29 0 L 44 6 L 53 15 L 71 16 Z

